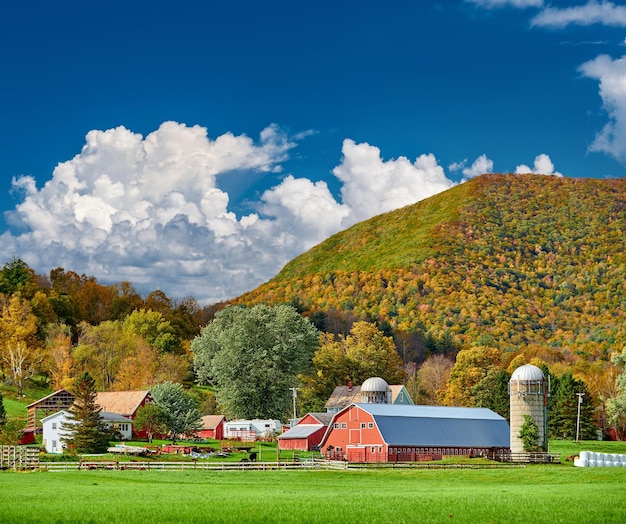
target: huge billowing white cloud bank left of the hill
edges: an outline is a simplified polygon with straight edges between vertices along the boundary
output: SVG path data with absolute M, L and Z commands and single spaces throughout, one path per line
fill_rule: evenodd
M 432 154 L 382 160 L 378 148 L 345 140 L 334 169 L 341 201 L 326 182 L 288 174 L 253 203 L 255 212 L 229 210 L 220 181 L 281 172 L 308 134 L 289 137 L 272 125 L 258 140 L 211 139 L 204 127 L 176 122 L 145 137 L 124 127 L 90 131 L 42 187 L 14 179 L 21 202 L 0 252 L 38 272 L 65 267 L 209 303 L 253 289 L 349 225 L 453 185 Z

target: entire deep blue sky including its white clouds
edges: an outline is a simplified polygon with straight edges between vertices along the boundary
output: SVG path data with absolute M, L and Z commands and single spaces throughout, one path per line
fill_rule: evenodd
M 0 253 L 236 296 L 485 172 L 626 175 L 608 1 L 5 6 Z

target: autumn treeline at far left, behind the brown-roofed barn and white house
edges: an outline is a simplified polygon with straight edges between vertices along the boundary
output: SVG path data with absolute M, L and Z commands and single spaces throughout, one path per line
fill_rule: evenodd
M 0 269 L 0 378 L 18 394 L 41 374 L 53 388 L 88 372 L 100 391 L 190 378 L 191 340 L 213 316 L 193 298 L 131 283 L 102 285 L 57 268 L 36 274 L 13 259 Z

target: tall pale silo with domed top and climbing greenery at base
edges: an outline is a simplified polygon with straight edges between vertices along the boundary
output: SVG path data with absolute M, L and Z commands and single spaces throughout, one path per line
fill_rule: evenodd
M 547 450 L 546 395 L 546 378 L 537 366 L 526 364 L 513 372 L 509 381 L 512 453 L 524 451 L 524 443 L 519 438 L 524 415 L 530 415 L 539 428 L 537 446 Z

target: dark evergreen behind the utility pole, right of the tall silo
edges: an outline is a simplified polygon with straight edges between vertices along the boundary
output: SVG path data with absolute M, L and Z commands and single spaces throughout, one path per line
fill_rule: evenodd
M 567 372 L 558 379 L 552 409 L 548 414 L 548 435 L 551 438 L 576 438 L 578 393 L 584 395 L 580 405 L 579 438 L 585 440 L 595 437 L 593 398 L 586 384 Z

